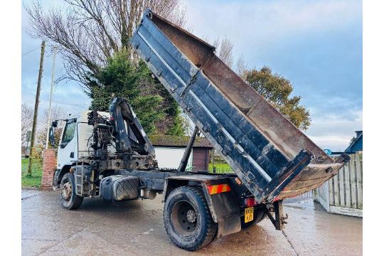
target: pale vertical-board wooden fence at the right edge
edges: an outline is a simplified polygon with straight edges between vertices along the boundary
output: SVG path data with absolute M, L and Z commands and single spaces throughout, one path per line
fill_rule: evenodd
M 363 217 L 363 151 L 349 156 L 343 169 L 315 190 L 314 201 L 329 213 Z

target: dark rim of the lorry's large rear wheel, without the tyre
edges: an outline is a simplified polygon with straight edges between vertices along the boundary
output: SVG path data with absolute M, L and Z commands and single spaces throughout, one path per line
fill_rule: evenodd
M 178 201 L 171 211 L 172 224 L 177 233 L 192 235 L 197 229 L 198 213 L 188 201 Z

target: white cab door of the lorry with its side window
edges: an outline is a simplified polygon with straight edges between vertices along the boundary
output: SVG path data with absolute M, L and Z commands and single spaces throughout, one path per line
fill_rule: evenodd
M 65 165 L 71 165 L 78 159 L 76 131 L 76 119 L 68 119 L 58 146 L 58 169 L 62 169 Z

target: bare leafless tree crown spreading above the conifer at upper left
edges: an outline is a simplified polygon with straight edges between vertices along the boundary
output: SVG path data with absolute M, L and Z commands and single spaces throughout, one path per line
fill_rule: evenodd
M 97 73 L 113 53 L 129 47 L 147 7 L 178 26 L 186 23 L 181 0 L 65 0 L 64 8 L 50 9 L 33 1 L 25 6 L 31 36 L 58 46 L 66 71 L 62 79 L 80 82 L 86 92 L 89 73 Z

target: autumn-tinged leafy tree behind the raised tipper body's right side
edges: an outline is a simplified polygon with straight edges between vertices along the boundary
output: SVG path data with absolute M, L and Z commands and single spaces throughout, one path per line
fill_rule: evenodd
M 306 130 L 311 124 L 309 110 L 300 105 L 300 96 L 289 97 L 293 87 L 282 75 L 273 74 L 268 67 L 245 70 L 242 78 L 287 117 L 296 127 Z

